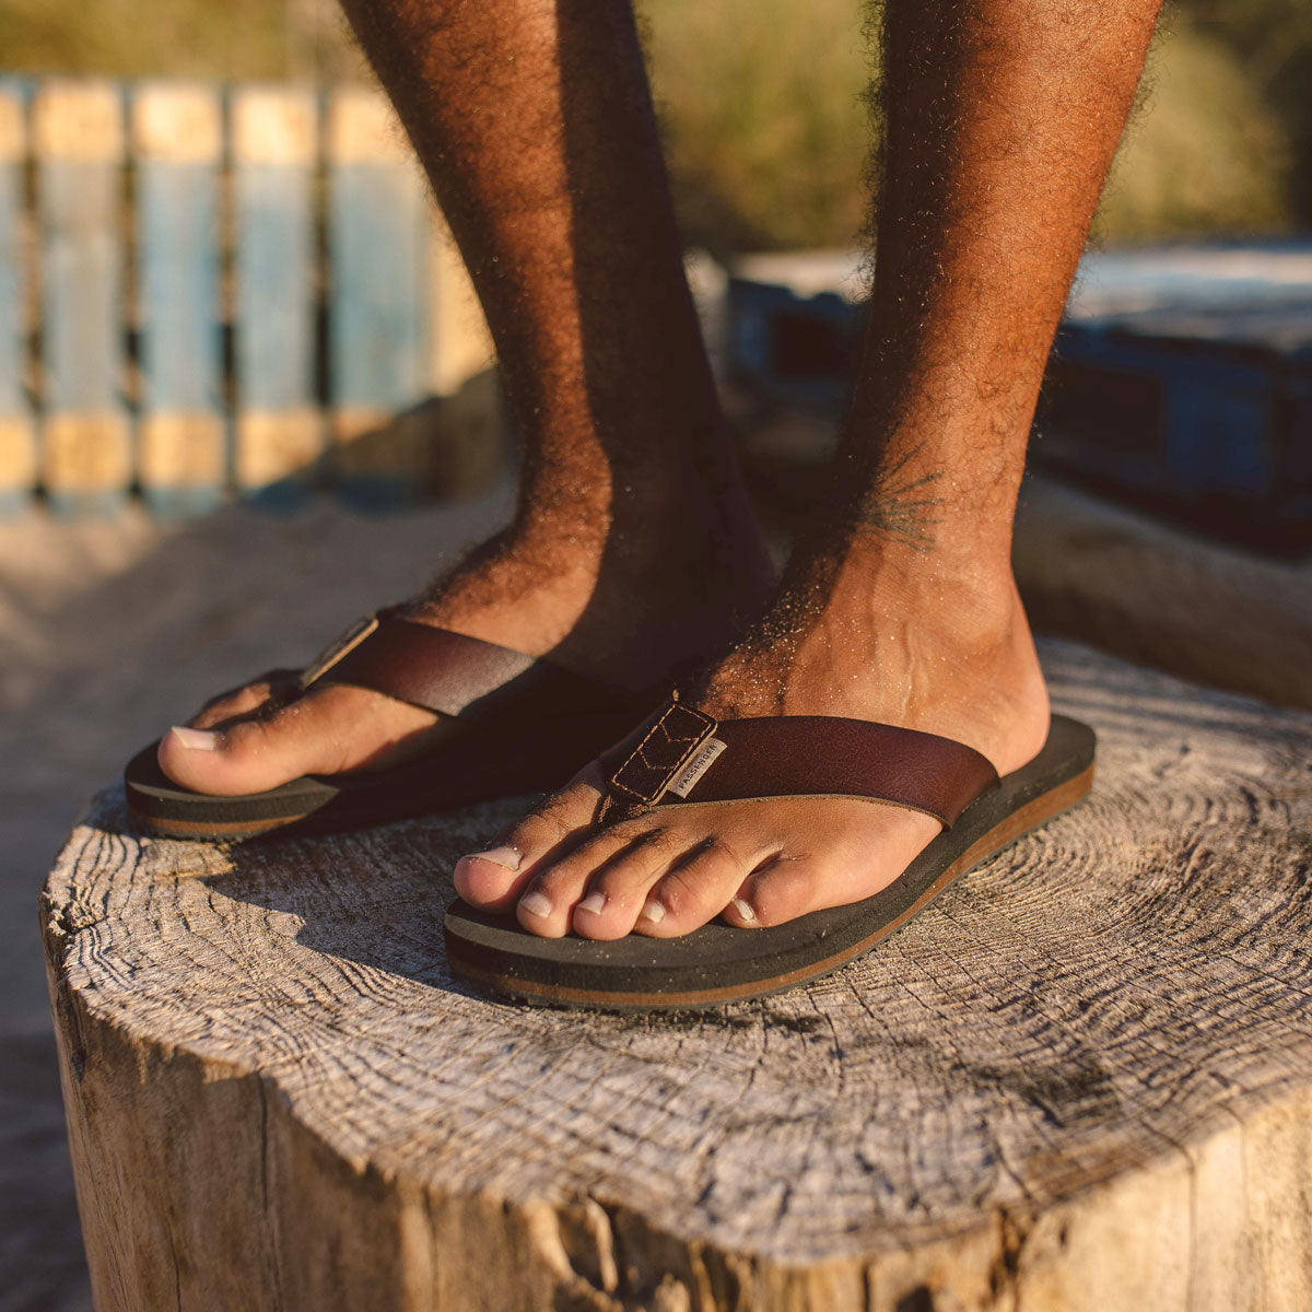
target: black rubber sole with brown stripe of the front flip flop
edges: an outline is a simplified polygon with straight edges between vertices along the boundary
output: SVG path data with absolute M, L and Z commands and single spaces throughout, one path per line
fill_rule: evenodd
M 848 964 L 899 930 L 968 870 L 1069 810 L 1093 786 L 1094 733 L 1055 715 L 1043 750 L 972 803 L 887 888 L 785 925 L 714 921 L 681 938 L 630 934 L 610 943 L 538 938 L 513 914 L 457 901 L 443 937 L 451 974 L 544 1005 L 648 1012 L 765 997 Z

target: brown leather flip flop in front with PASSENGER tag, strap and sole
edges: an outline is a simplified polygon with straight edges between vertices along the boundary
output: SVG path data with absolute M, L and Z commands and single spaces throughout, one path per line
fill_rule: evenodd
M 1078 802 L 1093 729 L 1054 715 L 1043 750 L 998 778 L 979 752 L 933 733 L 837 716 L 716 723 L 677 697 L 606 758 L 600 819 L 769 798 L 863 798 L 924 811 L 942 833 L 883 891 L 768 929 L 723 921 L 681 938 L 538 938 L 512 916 L 457 901 L 451 974 L 529 1002 L 610 1010 L 712 1006 L 827 975 L 887 938 L 967 870 Z

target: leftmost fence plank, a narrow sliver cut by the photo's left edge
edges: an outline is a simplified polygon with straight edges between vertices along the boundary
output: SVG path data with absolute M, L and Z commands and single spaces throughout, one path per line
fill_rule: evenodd
M 37 429 L 28 394 L 28 256 L 22 167 L 24 87 L 0 80 L 0 516 L 21 513 L 37 485 Z

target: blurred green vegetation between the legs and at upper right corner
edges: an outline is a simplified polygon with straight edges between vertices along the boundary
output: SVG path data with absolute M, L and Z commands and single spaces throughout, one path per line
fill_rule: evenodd
M 1149 59 L 1101 240 L 1312 223 L 1312 7 L 1194 0 Z M 863 219 L 870 80 L 859 0 L 643 0 L 685 231 L 714 248 L 848 245 Z M 1252 10 L 1287 9 L 1269 29 Z M 1271 17 L 1273 24 L 1275 16 Z M 1303 70 L 1290 83 L 1288 70 Z M 1281 91 L 1275 94 L 1271 88 Z M 1307 177 L 1305 195 L 1295 178 Z

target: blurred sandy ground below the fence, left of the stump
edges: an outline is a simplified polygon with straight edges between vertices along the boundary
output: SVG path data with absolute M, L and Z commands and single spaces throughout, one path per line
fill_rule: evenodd
M 37 890 L 93 790 L 220 687 L 297 665 L 502 522 L 506 487 L 359 518 L 0 523 L 0 1312 L 89 1312 Z

